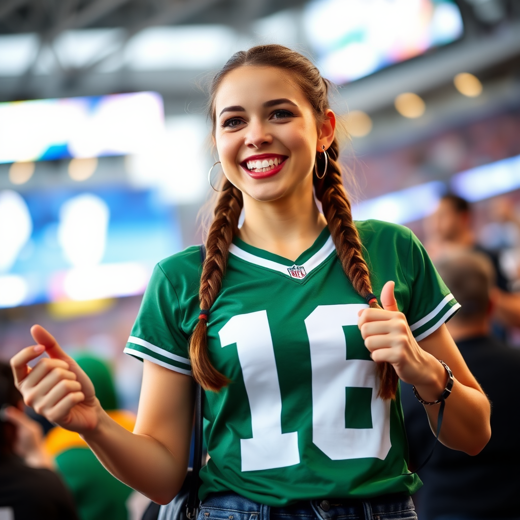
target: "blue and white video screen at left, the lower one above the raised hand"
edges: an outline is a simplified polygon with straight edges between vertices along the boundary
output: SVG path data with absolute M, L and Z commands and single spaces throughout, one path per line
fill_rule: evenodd
M 181 247 L 155 190 L 2 190 L 0 307 L 141 294 Z

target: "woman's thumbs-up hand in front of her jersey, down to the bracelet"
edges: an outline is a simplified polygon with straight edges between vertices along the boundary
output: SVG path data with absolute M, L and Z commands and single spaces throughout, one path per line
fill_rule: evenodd
M 394 285 L 386 282 L 381 291 L 383 309 L 359 312 L 361 336 L 374 361 L 391 363 L 399 379 L 414 385 L 424 400 L 435 401 L 445 388 L 446 371 L 415 341 L 405 315 L 398 310 Z

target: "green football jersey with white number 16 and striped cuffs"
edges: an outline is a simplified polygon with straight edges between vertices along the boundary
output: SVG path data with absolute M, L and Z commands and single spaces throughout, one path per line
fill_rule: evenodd
M 456 312 L 460 305 L 408 228 L 378 220 L 356 226 L 374 293 L 395 281 L 415 339 Z M 200 274 L 197 246 L 155 267 L 126 353 L 191 373 Z M 377 397 L 377 365 L 357 327 L 366 307 L 328 228 L 294 262 L 233 240 L 207 323 L 210 359 L 231 383 L 205 393 L 211 459 L 201 471 L 202 499 L 231 490 L 283 506 L 412 494 L 421 486 L 407 470 L 400 397 Z

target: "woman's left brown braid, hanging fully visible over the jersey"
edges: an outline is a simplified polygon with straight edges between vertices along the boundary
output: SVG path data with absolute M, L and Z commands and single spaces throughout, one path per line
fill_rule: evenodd
M 242 192 L 226 179 L 207 235 L 206 259 L 202 266 L 199 289 L 201 311 L 190 340 L 189 352 L 193 378 L 204 389 L 213 392 L 218 392 L 220 388 L 229 383 L 229 380 L 211 364 L 207 352 L 206 322 L 211 306 L 222 286 L 229 245 L 238 230 L 242 205 Z

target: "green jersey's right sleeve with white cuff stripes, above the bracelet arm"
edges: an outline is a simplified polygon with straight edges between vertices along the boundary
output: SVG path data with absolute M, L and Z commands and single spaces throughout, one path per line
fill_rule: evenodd
M 405 276 L 410 290 L 410 304 L 405 314 L 415 339 L 421 341 L 448 321 L 460 309 L 460 304 L 411 231 Z

